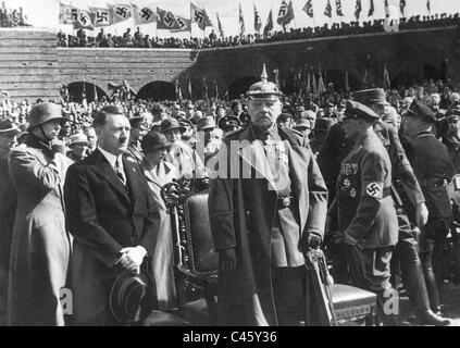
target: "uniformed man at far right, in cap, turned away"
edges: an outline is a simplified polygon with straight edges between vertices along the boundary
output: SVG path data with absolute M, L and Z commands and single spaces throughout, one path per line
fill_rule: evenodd
M 433 133 L 435 124 L 434 112 L 417 99 L 402 116 L 402 132 L 410 139 L 406 151 L 430 211 L 420 238 L 420 259 L 432 309 L 438 311 L 444 282 L 440 264 L 452 216 L 446 186 L 455 169 L 446 146 Z

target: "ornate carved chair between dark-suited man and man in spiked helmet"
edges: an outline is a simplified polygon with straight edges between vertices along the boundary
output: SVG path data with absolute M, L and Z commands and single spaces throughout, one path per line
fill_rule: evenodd
M 211 324 L 216 318 L 219 257 L 209 223 L 208 181 L 182 178 L 166 184 L 161 195 L 172 221 L 178 309 L 190 322 Z

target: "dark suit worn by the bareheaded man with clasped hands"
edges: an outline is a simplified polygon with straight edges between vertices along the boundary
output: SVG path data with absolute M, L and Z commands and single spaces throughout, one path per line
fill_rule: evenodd
M 154 252 L 160 226 L 158 206 L 136 161 L 124 156 L 123 167 L 128 190 L 99 150 L 69 169 L 64 188 L 67 226 L 74 236 L 75 324 L 111 322 L 107 300 L 122 248 L 140 245 L 150 259 Z

